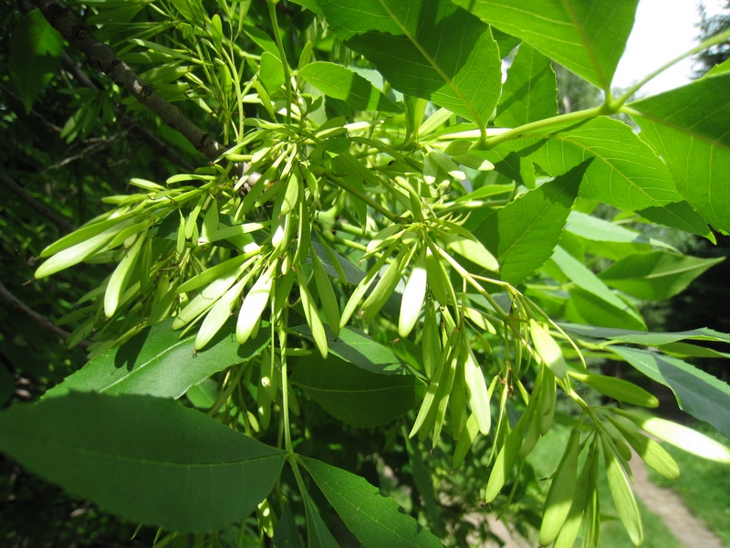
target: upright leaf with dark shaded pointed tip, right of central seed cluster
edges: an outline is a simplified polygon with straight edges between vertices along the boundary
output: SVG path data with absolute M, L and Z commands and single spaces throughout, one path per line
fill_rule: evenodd
M 519 284 L 550 258 L 592 161 L 589 158 L 520 196 L 474 230 L 474 236 L 497 258 L 501 279 Z

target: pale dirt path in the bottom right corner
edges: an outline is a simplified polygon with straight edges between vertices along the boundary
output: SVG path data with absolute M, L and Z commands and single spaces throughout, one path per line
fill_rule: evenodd
M 705 523 L 684 506 L 684 502 L 671 489 L 659 487 L 649 480 L 646 465 L 638 455 L 631 458 L 634 494 L 672 532 L 685 548 L 724 548 Z

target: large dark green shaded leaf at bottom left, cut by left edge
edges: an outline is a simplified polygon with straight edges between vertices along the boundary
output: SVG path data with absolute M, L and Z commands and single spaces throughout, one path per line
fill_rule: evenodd
M 149 395 L 71 393 L 0 414 L 0 449 L 132 522 L 216 531 L 255 510 L 285 453 Z

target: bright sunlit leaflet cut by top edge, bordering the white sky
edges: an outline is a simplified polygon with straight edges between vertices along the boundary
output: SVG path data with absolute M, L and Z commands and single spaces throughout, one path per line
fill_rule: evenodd
M 638 0 L 453 0 L 489 25 L 610 90 Z

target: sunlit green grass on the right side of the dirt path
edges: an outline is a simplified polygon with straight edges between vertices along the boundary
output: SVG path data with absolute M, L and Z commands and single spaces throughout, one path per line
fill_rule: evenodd
M 695 428 L 705 436 L 727 445 L 725 436 L 704 423 Z M 682 449 L 664 445 L 677 461 L 681 474 L 679 479 L 665 479 L 650 469 L 649 479 L 662 487 L 673 489 L 687 508 L 707 523 L 707 526 L 730 546 L 730 465 L 705 460 L 684 452 Z

